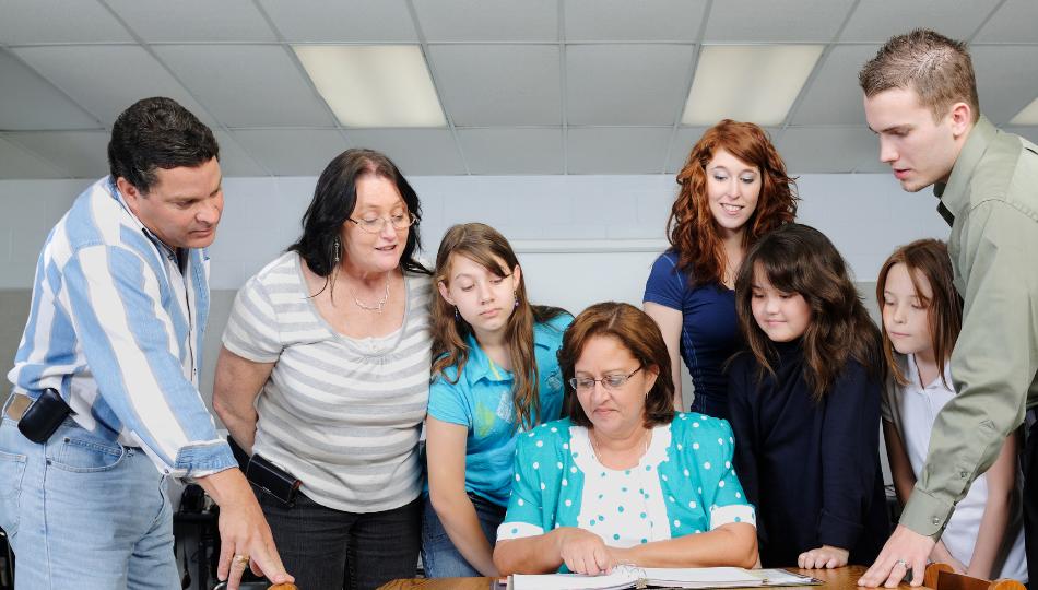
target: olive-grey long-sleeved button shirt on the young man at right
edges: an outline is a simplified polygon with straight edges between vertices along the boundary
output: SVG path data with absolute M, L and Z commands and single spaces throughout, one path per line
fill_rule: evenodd
M 954 216 L 948 250 L 966 304 L 952 354 L 958 393 L 937 414 L 900 522 L 937 539 L 1038 404 L 1038 148 L 981 116 L 934 193 Z

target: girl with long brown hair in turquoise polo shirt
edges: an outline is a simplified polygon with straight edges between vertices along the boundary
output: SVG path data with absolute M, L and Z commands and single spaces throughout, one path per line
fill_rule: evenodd
M 511 246 L 481 223 L 447 231 L 435 280 L 422 562 L 430 578 L 496 576 L 516 437 L 559 416 L 573 317 L 530 305 Z

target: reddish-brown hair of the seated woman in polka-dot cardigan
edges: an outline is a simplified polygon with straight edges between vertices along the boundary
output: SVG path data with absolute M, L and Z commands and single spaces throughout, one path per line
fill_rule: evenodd
M 640 363 L 644 370 L 656 370 L 656 384 L 645 399 L 645 427 L 670 424 L 674 420 L 674 381 L 671 357 L 659 326 L 637 307 L 616 302 L 594 304 L 577 316 L 558 350 L 558 365 L 566 382 L 565 412 L 574 424 L 592 427 L 591 420 L 577 400 L 569 380 L 576 376 L 577 361 L 592 338 L 611 337 L 620 341 Z

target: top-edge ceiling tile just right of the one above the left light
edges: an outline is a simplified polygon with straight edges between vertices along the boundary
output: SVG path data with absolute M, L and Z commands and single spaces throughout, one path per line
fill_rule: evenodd
M 414 11 L 429 43 L 558 40 L 556 0 L 422 0 Z

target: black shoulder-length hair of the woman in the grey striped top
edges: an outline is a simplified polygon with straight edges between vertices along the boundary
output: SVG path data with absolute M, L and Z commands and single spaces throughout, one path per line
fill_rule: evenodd
M 365 176 L 385 178 L 396 185 L 408 211 L 414 215 L 414 225 L 408 231 L 408 241 L 400 256 L 400 267 L 405 271 L 430 274 L 415 259 L 415 252 L 422 248 L 418 196 L 397 165 L 375 150 L 346 150 L 328 163 L 317 179 L 314 199 L 303 215 L 303 235 L 286 251 L 298 252 L 314 274 L 325 278 L 327 287 L 339 255 L 335 239 L 342 232 L 342 225 L 353 214 L 357 204 L 357 180 Z

